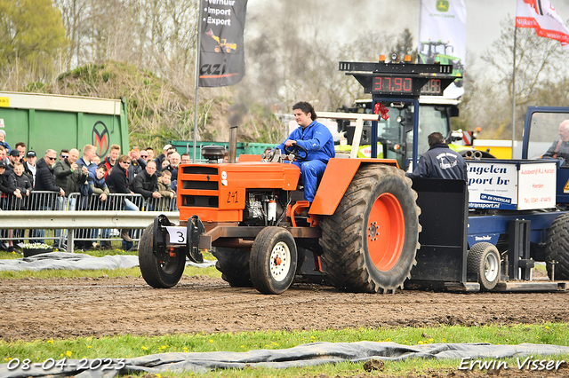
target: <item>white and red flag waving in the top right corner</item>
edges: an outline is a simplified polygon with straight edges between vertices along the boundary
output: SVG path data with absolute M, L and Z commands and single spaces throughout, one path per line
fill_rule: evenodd
M 534 28 L 537 35 L 556 39 L 569 49 L 569 29 L 549 0 L 517 0 L 516 27 Z

